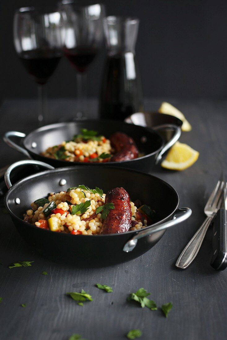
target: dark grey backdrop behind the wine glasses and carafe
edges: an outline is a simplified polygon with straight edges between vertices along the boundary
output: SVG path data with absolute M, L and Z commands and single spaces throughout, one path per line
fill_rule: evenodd
M 13 46 L 16 8 L 55 0 L 1 0 L 1 91 L 9 97 L 36 97 Z M 108 15 L 140 19 L 136 54 L 144 97 L 227 97 L 227 1 L 107 0 Z M 88 72 L 88 96 L 99 94 L 105 51 Z M 75 97 L 76 73 L 63 58 L 47 84 L 48 97 Z

